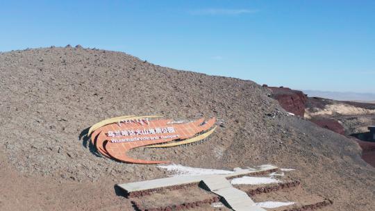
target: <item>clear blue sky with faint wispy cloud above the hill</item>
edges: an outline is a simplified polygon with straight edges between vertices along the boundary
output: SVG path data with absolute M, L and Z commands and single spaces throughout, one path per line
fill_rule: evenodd
M 260 84 L 375 93 L 375 1 L 0 1 L 0 51 L 67 44 Z

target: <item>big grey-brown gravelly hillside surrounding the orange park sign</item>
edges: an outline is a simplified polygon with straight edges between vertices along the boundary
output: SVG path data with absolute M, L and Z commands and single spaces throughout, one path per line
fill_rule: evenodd
M 293 178 L 306 192 L 333 200 L 333 210 L 375 210 L 375 170 L 360 158 L 358 144 L 288 115 L 252 81 L 82 47 L 1 53 L 0 80 L 0 210 L 132 210 L 113 185 L 166 172 L 98 157 L 81 137 L 92 124 L 121 115 L 218 119 L 203 144 L 135 149 L 133 158 L 294 168 Z

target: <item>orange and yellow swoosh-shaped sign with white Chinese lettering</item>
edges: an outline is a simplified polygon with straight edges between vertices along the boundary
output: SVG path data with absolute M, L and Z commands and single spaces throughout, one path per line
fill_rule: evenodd
M 177 122 L 172 119 L 160 119 L 158 116 L 124 116 L 95 124 L 90 128 L 88 135 L 91 136 L 92 144 L 107 158 L 138 164 L 158 164 L 166 161 L 133 159 L 129 158 L 126 152 L 147 145 L 169 147 L 197 142 L 213 133 L 216 128 L 214 124 L 215 118 L 208 121 L 201 118 Z

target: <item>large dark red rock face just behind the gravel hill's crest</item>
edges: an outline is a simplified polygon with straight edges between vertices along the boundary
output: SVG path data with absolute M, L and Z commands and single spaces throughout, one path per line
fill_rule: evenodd
M 265 87 L 265 85 L 263 85 Z M 272 98 L 276 99 L 286 111 L 303 117 L 308 97 L 303 92 L 287 87 L 269 87 Z

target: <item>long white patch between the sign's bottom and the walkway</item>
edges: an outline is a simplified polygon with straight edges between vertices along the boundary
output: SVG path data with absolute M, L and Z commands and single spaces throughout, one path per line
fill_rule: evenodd
M 184 167 L 181 164 L 169 164 L 158 166 L 161 169 L 166 169 L 167 171 L 174 171 L 174 176 L 176 175 L 206 175 L 206 174 L 233 174 L 234 171 L 226 171 L 219 169 L 201 169 L 193 167 Z

